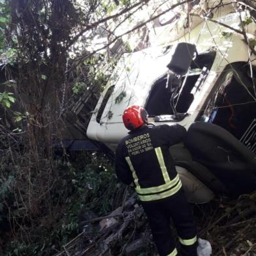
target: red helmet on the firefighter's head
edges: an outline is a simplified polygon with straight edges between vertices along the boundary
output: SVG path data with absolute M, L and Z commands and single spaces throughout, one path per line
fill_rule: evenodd
M 148 112 L 141 106 L 129 106 L 123 112 L 123 123 L 128 130 L 135 130 L 148 123 Z

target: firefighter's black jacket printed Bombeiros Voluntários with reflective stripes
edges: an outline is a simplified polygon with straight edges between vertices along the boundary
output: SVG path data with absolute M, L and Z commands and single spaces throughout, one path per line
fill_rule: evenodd
M 168 148 L 182 142 L 185 133 L 181 125 L 144 126 L 130 132 L 116 150 L 118 178 L 127 185 L 133 182 L 139 188 L 137 193 L 140 193 L 140 189 L 150 187 L 157 193 L 167 190 L 167 187 L 169 189 L 170 182 L 175 178 L 175 182 L 178 182 L 178 178 Z M 167 183 L 170 185 L 164 185 Z M 153 193 L 150 189 L 144 192 Z

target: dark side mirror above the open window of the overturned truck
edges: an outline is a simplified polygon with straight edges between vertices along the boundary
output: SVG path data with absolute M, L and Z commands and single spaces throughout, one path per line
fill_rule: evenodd
M 172 48 L 171 54 L 172 59 L 167 67 L 170 71 L 182 76 L 189 70 L 191 62 L 197 54 L 197 48 L 195 44 L 179 42 Z

